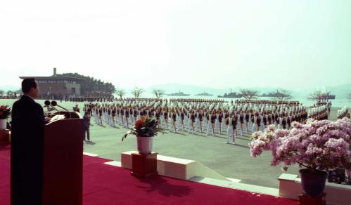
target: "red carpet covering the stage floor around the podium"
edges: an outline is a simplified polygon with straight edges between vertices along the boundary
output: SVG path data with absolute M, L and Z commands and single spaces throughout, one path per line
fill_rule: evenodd
M 84 155 L 84 205 L 113 204 L 298 204 L 297 201 L 162 176 L 134 178 L 130 171 Z M 0 200 L 10 197 L 10 148 L 0 147 Z M 4 199 L 4 200 L 3 200 Z

